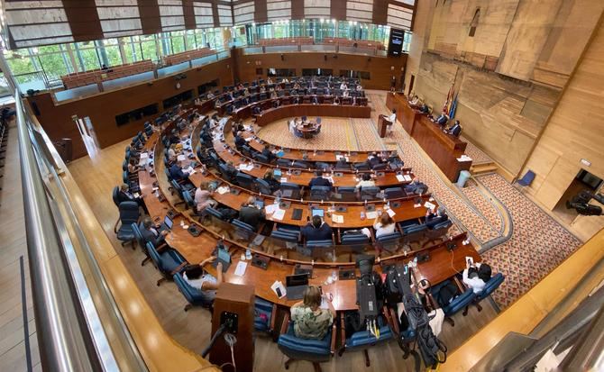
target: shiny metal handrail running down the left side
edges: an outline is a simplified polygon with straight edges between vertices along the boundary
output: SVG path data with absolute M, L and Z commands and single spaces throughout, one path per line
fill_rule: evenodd
M 90 332 L 82 322 L 74 322 L 81 319 L 82 312 L 63 259 L 58 230 L 51 217 L 18 92 L 15 104 L 25 228 L 42 368 L 58 371 L 98 369 L 100 361 L 90 352 Z

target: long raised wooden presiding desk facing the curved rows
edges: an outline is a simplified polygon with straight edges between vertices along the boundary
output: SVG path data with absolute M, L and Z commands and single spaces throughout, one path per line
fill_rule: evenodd
M 451 182 L 457 181 L 460 171 L 470 169 L 471 160 L 458 160 L 462 157 L 467 143 L 443 132 L 441 127 L 431 122 L 425 114 L 411 107 L 405 95 L 389 93 L 386 105 L 390 110 L 397 110 L 397 119 L 405 131 L 426 151 Z

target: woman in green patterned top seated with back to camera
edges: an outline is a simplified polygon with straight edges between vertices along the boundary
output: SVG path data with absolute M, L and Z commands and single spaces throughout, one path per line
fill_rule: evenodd
M 321 309 L 322 298 L 329 310 Z M 300 339 L 323 340 L 336 317 L 331 298 L 322 296 L 318 286 L 308 286 L 304 300 L 291 306 L 290 312 L 294 334 Z

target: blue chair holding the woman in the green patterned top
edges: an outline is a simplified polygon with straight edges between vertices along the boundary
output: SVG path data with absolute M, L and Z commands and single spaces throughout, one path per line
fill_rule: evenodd
M 316 372 L 321 372 L 319 363 L 329 361 L 334 355 L 335 336 L 334 323 L 322 340 L 297 338 L 294 333 L 294 322 L 289 321 L 289 313 L 287 313 L 281 324 L 279 340 L 277 340 L 277 347 L 288 357 L 288 360 L 285 362 L 285 368 L 288 369 L 289 364 L 293 361 L 307 360 L 313 363 Z

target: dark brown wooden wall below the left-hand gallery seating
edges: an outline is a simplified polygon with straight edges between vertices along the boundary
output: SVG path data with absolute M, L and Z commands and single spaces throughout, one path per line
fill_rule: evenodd
M 72 115 L 78 115 L 79 118 L 88 116 L 101 148 L 105 148 L 133 137 L 136 132 L 142 130 L 142 123 L 151 119 L 151 117 L 147 117 L 138 122 L 129 122 L 118 127 L 115 123 L 115 115 L 127 113 L 148 104 L 159 104 L 161 113 L 164 99 L 190 89 L 194 89 L 193 96 L 197 96 L 197 86 L 215 78 L 220 79 L 221 85 L 232 85 L 232 66 L 231 59 L 224 59 L 201 68 L 190 69 L 184 72 L 187 78 L 179 80 L 180 89 L 176 89 L 174 77 L 164 77 L 150 83 L 142 83 L 66 104 L 55 105 L 50 93 L 34 95 L 28 99 L 31 103 L 37 104 L 40 109 L 41 115 L 38 116 L 38 119 L 50 140 L 59 141 L 62 138 L 73 140 L 73 157 L 77 159 L 86 156 L 87 152 L 78 129 L 71 120 Z

